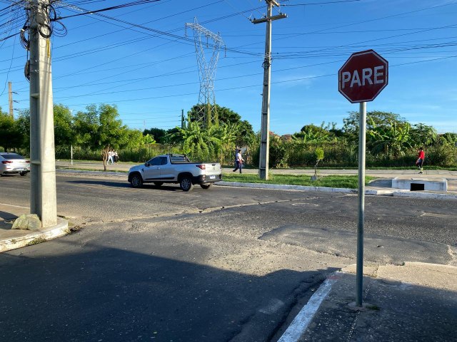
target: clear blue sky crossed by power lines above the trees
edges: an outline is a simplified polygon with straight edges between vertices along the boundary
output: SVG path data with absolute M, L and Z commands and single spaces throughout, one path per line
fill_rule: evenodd
M 56 9 L 63 17 L 131 1 L 68 0 Z M 1 38 L 25 21 L 24 10 L 11 2 L 0 1 Z M 270 130 L 295 133 L 323 121 L 342 127 L 358 104 L 338 93 L 338 69 L 351 53 L 373 48 L 389 62 L 389 83 L 367 110 L 457 132 L 456 0 L 280 2 L 287 18 L 273 21 Z M 62 19 L 66 36 L 52 37 L 54 103 L 74 113 L 92 103 L 114 104 L 123 123 L 140 130 L 179 125 L 181 109 L 199 102 L 194 35 L 185 29 L 196 18 L 226 45 L 214 80 L 216 103 L 260 130 L 266 26 L 248 18 L 265 13 L 258 0 L 161 0 Z M 19 36 L 0 46 L 0 106 L 8 110 L 11 81 L 14 108 L 28 108 L 26 51 Z

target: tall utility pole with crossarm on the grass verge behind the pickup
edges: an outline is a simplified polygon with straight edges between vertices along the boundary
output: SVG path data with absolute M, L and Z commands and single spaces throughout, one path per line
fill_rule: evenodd
M 253 24 L 266 22 L 265 58 L 263 60 L 263 92 L 262 92 L 262 120 L 260 162 L 258 165 L 258 177 L 268 180 L 268 150 L 270 148 L 270 79 L 271 79 L 271 21 L 287 18 L 286 14 L 271 16 L 273 6 L 279 6 L 276 0 L 265 0 L 267 6 L 266 18 L 253 19 Z

